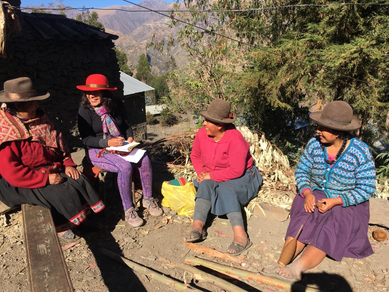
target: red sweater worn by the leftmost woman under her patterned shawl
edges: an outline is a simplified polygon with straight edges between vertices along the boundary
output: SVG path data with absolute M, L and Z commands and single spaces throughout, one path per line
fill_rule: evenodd
M 49 185 L 49 174 L 64 172 L 68 166 L 77 166 L 72 158 L 64 161 L 63 157 L 39 142 L 27 140 L 3 143 L 0 146 L 0 165 L 2 177 L 19 188 Z M 46 167 L 34 170 L 42 166 Z

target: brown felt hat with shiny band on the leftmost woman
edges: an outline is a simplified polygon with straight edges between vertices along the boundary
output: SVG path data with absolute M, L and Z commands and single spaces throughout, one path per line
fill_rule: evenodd
M 4 82 L 4 91 L 0 92 L 0 102 L 26 102 L 44 100 L 50 93 L 37 93 L 34 83 L 28 77 L 20 77 Z

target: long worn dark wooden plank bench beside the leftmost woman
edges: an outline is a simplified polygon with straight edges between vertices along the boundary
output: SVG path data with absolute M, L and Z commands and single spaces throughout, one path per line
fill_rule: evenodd
M 31 292 L 73 292 L 51 212 L 23 204 L 28 281 Z

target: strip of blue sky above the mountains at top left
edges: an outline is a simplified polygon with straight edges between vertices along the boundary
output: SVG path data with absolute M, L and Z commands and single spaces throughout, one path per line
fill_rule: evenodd
M 55 3 L 54 0 L 21 0 L 22 4 L 21 6 L 28 6 L 28 5 L 48 5 L 50 2 Z M 46 2 L 47 1 L 47 2 Z M 131 2 L 134 3 L 140 3 L 143 0 L 130 0 Z M 165 2 L 173 2 L 173 0 L 163 0 Z M 128 2 L 124 2 L 123 0 L 110 0 L 110 1 L 103 1 L 103 0 L 63 0 L 62 1 L 63 5 L 66 6 L 71 6 L 71 7 L 82 7 L 85 5 L 85 7 L 95 7 L 95 8 L 101 8 L 101 7 L 107 7 L 107 6 L 112 6 L 112 5 L 131 5 Z

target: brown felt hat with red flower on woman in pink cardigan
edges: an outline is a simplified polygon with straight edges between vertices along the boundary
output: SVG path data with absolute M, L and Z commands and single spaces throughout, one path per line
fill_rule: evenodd
M 237 116 L 231 113 L 231 107 L 224 99 L 214 99 L 206 111 L 200 111 L 205 119 L 223 124 L 230 124 L 237 120 Z

